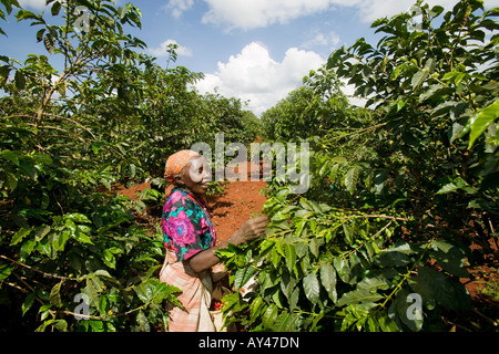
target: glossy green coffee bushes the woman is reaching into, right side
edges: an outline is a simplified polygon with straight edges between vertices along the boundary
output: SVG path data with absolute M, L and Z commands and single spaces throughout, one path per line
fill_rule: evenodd
M 286 116 L 295 127 L 302 117 L 313 122 L 301 129 L 313 150 L 313 183 L 292 195 L 274 179 L 267 237 L 218 252 L 236 290 L 256 280 L 245 298 L 225 298 L 227 323 L 249 331 L 441 331 L 442 313 L 470 309 L 459 279 L 482 256 L 469 246 L 492 252 L 488 239 L 497 239 L 498 12 L 481 1 L 446 13 L 417 6 L 420 28 L 410 13 L 375 21 L 384 34 L 376 48 L 360 39 L 333 52 L 307 86 L 264 114 L 264 127 L 276 126 L 267 131 L 273 138 L 296 132 L 286 131 Z M 335 75 L 355 85 L 370 113 L 325 107 L 330 100 L 308 85 L 333 86 L 342 102 Z M 329 112 L 326 132 L 317 129 Z

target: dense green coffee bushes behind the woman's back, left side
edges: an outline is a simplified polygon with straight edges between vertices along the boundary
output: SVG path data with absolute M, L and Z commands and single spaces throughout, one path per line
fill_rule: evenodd
M 157 280 L 161 230 L 134 220 L 163 194 L 132 201 L 112 190 L 145 178 L 161 189 L 170 153 L 211 138 L 206 131 L 246 143 L 258 125 L 238 100 L 195 92 L 203 75 L 172 67 L 174 46 L 166 67 L 142 53 L 146 44 L 126 33 L 141 28 L 131 3 L 49 0 L 43 13 L 1 3 L 0 17 L 35 28 L 48 52 L 0 55 L 2 329 L 9 319 L 38 331 L 166 327 L 164 304 L 180 305 L 180 290 Z

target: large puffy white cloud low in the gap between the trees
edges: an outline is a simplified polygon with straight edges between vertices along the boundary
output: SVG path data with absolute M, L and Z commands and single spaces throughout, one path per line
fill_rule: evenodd
M 224 96 L 249 101 L 248 108 L 259 115 L 299 87 L 303 77 L 324 63 L 317 53 L 296 48 L 287 50 L 283 61 L 277 62 L 264 45 L 252 42 L 237 55 L 231 55 L 227 63 L 218 62 L 218 70 L 205 75 L 196 88 L 201 93 L 216 88 Z

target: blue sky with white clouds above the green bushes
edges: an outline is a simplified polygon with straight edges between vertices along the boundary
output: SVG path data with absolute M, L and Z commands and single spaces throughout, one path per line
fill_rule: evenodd
M 19 0 L 31 11 L 47 10 L 44 0 Z M 195 87 L 247 102 L 259 116 L 302 85 L 310 70 L 329 54 L 359 38 L 380 39 L 370 24 L 408 11 L 415 0 L 118 0 L 142 12 L 142 30 L 129 30 L 147 44 L 144 51 L 166 66 L 166 45 L 176 43 L 176 65 L 204 73 Z M 428 0 L 450 10 L 457 0 Z M 486 8 L 499 0 L 486 0 Z M 50 18 L 50 10 L 45 18 Z M 0 27 L 0 54 L 20 60 L 45 54 L 37 43 L 37 28 L 12 17 Z M 345 91 L 348 94 L 350 87 Z

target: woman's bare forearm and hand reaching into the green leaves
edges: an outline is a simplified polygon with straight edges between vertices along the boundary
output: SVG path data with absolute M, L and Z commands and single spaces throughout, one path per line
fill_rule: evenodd
M 226 241 L 223 241 L 220 244 L 190 258 L 189 263 L 192 270 L 196 273 L 201 273 L 218 263 L 220 258 L 216 256 L 215 250 L 226 248 L 228 246 L 228 242 L 233 244 L 241 244 L 246 242 L 247 240 L 261 237 L 265 232 L 268 221 L 269 220 L 266 216 L 261 216 L 247 220 Z

